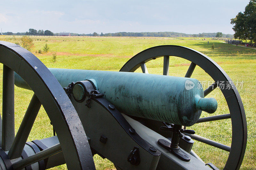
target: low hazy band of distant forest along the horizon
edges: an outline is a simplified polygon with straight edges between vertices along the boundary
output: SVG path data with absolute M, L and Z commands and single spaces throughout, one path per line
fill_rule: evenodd
M 48 30 L 47 30 L 48 31 Z M 6 32 L 3 35 L 31 35 L 26 33 L 12 33 Z M 71 36 L 105 36 L 105 37 L 216 37 L 217 33 L 198 33 L 198 34 L 186 34 L 186 33 L 176 33 L 176 32 L 141 32 L 141 33 L 132 33 L 132 32 L 119 32 L 119 33 L 101 33 L 96 32 L 89 34 L 78 34 L 70 33 Z M 33 34 L 32 34 L 33 35 Z M 39 34 L 34 34 L 39 35 Z M 42 35 L 42 34 L 41 34 Z M 59 33 L 53 33 L 54 36 L 59 36 Z M 223 38 L 234 38 L 233 34 L 222 34 Z

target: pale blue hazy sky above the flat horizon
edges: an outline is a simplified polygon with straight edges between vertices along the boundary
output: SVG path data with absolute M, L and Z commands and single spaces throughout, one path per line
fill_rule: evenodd
M 1 0 L 3 32 L 234 34 L 230 19 L 250 0 Z

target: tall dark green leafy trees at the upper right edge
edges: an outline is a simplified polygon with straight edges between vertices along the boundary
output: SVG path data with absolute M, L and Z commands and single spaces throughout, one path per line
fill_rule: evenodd
M 232 29 L 236 39 L 256 43 L 256 0 L 250 0 L 244 12 L 239 12 L 230 23 L 235 24 Z

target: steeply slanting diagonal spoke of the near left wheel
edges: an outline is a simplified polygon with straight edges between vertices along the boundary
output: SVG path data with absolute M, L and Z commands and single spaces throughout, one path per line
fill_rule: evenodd
M 24 146 L 27 142 L 32 126 L 36 120 L 36 116 L 39 112 L 40 107 L 41 107 L 41 102 L 38 100 L 38 98 L 34 94 L 28 105 L 28 109 L 25 113 L 25 116 L 20 124 L 20 128 L 14 138 L 11 149 L 8 152 L 8 156 L 10 159 L 15 159 L 20 157 L 24 149 Z

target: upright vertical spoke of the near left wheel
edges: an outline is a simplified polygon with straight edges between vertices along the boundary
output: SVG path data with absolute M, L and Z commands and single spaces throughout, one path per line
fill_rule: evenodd
M 14 140 L 14 71 L 3 66 L 2 149 L 8 151 Z

